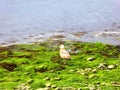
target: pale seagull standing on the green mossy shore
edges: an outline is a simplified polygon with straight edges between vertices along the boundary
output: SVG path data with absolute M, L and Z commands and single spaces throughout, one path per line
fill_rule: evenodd
M 62 59 L 71 60 L 70 54 L 68 51 L 65 50 L 64 45 L 61 44 L 59 47 L 60 47 L 60 57 Z

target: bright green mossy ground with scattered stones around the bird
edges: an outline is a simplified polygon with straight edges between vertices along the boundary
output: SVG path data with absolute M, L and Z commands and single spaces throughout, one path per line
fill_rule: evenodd
M 60 58 L 61 43 L 72 60 Z M 100 63 L 116 67 L 101 69 Z M 74 41 L 0 47 L 0 90 L 14 90 L 22 83 L 31 90 L 120 90 L 120 47 Z

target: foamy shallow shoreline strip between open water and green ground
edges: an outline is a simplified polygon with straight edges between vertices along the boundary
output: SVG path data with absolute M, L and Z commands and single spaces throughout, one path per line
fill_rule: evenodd
M 20 40 L 10 39 L 0 43 L 0 46 L 9 46 L 14 44 L 30 44 L 45 41 L 73 40 L 82 42 L 101 42 L 103 44 L 120 45 L 120 31 L 81 31 L 68 33 L 65 31 L 56 31 L 52 33 L 43 33 L 40 35 L 25 35 Z

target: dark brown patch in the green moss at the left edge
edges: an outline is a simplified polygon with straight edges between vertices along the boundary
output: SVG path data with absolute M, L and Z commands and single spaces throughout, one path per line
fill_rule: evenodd
M 0 63 L 0 66 L 7 69 L 8 71 L 13 71 L 17 67 L 16 64 L 7 62 Z

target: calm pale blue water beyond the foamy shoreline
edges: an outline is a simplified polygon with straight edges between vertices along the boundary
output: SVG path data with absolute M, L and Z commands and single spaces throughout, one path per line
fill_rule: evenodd
M 0 0 L 0 44 L 56 31 L 113 28 L 120 25 L 119 9 L 119 0 Z

